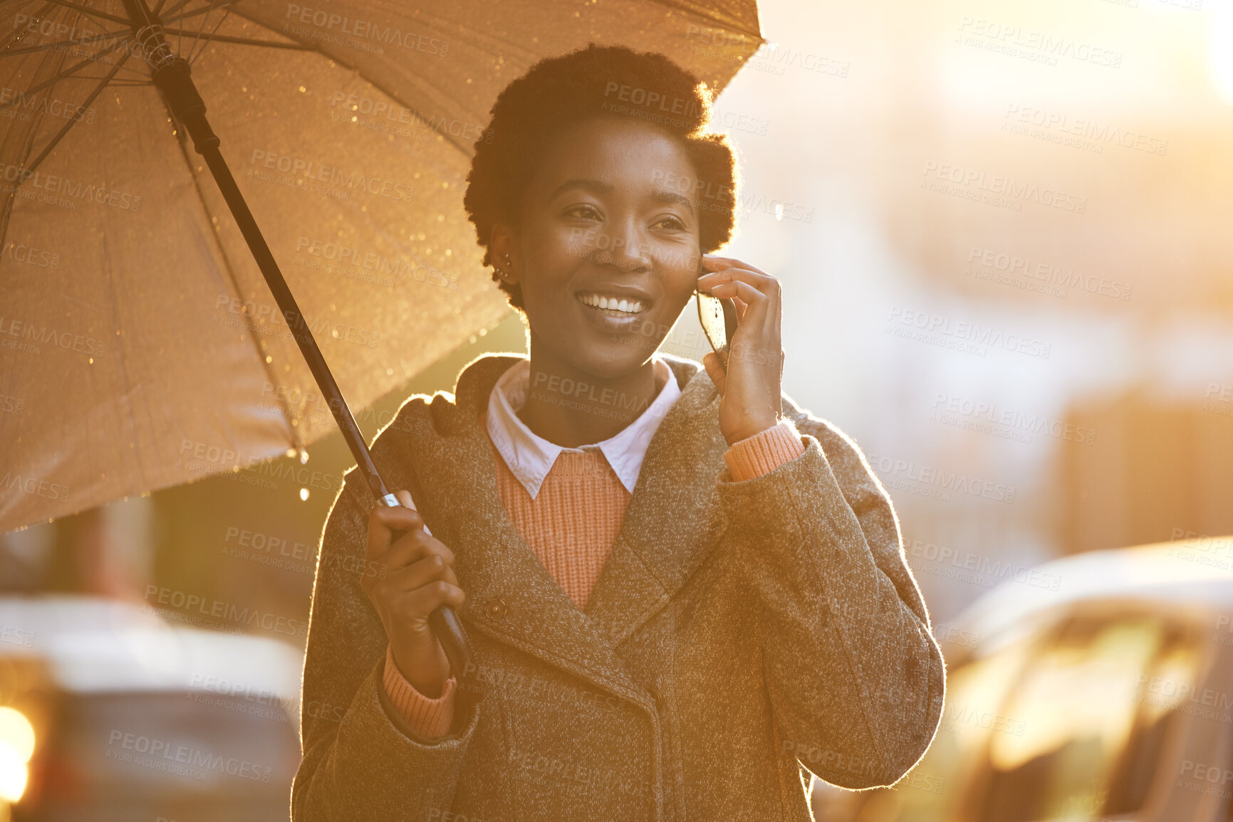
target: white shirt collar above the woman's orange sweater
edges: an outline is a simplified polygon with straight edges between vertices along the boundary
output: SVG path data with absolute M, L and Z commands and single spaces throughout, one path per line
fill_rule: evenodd
M 501 454 L 510 473 L 522 483 L 531 499 L 539 494 L 544 477 L 552 468 L 557 455 L 562 451 L 582 452 L 586 449 L 599 449 L 603 451 L 608 465 L 613 467 L 616 477 L 625 490 L 634 493 L 637 484 L 637 474 L 642 470 L 642 457 L 646 456 L 646 447 L 651 444 L 651 437 L 658 430 L 663 415 L 668 413 L 672 404 L 681 397 L 681 387 L 672 368 L 663 360 L 653 360 L 656 375 L 667 375 L 663 388 L 655 401 L 646 407 L 637 419 L 626 425 L 619 434 L 603 442 L 583 445 L 576 449 L 565 449 L 549 442 L 543 436 L 534 434 L 526 424 L 518 418 L 518 412 L 526 403 L 526 391 L 530 387 L 530 360 L 522 360 L 501 375 L 497 385 L 488 394 L 487 429 L 493 445 Z M 570 381 L 562 381 L 565 383 Z M 561 397 L 562 402 L 572 402 L 577 386 L 561 386 L 554 392 Z M 582 392 L 587 393 L 587 392 Z M 592 394 L 588 394 L 588 397 Z M 619 402 L 612 404 L 614 413 L 620 413 Z

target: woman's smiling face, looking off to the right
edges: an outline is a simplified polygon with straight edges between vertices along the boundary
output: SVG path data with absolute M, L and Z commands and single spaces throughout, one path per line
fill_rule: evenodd
M 639 121 L 598 117 L 557 137 L 519 227 L 494 233 L 513 254 L 533 356 L 599 378 L 650 359 L 698 280 L 695 176 L 679 140 Z

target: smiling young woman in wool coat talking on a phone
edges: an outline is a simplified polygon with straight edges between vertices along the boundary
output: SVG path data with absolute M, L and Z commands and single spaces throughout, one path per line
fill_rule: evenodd
M 928 747 L 944 670 L 890 500 L 780 396 L 776 279 L 699 276 L 735 201 L 709 104 L 594 46 L 498 97 L 465 203 L 530 356 L 480 357 L 377 437 L 418 511 L 348 474 L 296 820 L 804 821 L 808 771 L 888 785 Z M 726 372 L 656 354 L 695 288 L 736 301 Z M 443 603 L 475 670 L 428 626 Z

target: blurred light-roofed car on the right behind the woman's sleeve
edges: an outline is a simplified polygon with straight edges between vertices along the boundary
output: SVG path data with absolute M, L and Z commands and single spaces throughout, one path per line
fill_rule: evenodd
M 917 765 L 872 791 L 815 779 L 815 818 L 1233 821 L 1233 537 L 1034 572 L 935 626 L 946 707 Z

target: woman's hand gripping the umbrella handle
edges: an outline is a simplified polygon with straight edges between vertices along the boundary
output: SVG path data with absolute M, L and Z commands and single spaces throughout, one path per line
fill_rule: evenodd
M 411 508 L 408 492 L 395 495 L 406 508 L 377 504 L 369 514 L 369 567 L 379 563 L 385 574 L 364 574 L 360 585 L 381 617 L 398 672 L 420 694 L 435 699 L 450 677 L 450 663 L 428 615 L 441 604 L 457 608 L 466 594 L 454 576 L 454 552 L 424 532 L 424 520 Z

